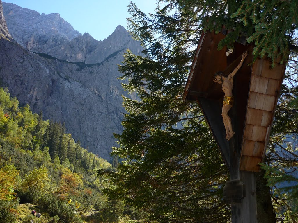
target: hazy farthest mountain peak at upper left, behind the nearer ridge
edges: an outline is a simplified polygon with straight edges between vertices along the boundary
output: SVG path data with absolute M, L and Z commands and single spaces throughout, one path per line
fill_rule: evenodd
M 3 15 L 13 39 L 30 51 L 44 53 L 81 35 L 59 13 L 39 14 L 3 2 Z

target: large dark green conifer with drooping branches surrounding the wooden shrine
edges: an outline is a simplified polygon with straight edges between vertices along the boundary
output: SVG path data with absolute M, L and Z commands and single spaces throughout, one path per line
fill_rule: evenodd
M 129 80 L 123 87 L 137 92 L 140 100 L 124 98 L 128 114 L 122 122 L 123 133 L 115 135 L 119 147 L 112 152 L 124 160 L 118 172 L 98 173 L 114 184 L 106 193 L 141 209 L 148 221 L 228 222 L 229 206 L 222 201 L 227 169 L 198 105 L 181 101 L 194 49 L 202 31 L 219 32 L 224 25 L 234 31 L 218 49 L 232 47 L 244 35 L 255 44 L 255 58 L 268 56 L 285 62 L 289 54 L 290 58 L 297 56 L 297 1 L 168 0 L 159 4 L 150 15 L 129 5 L 129 29 L 145 50 L 144 56 L 128 50 L 119 70 L 121 78 Z M 297 98 L 297 72 L 286 78 L 293 86 L 283 85 L 281 100 L 293 100 Z M 288 102 L 278 106 L 274 122 L 278 127 L 272 131 L 277 137 L 286 134 L 283 127 L 288 125 L 297 134 L 292 121 L 285 119 Z M 292 120 L 297 120 L 297 111 L 290 114 L 291 118 L 296 114 Z M 265 161 L 270 164 L 272 160 Z M 266 202 L 271 203 L 266 180 L 258 183 L 269 195 Z M 265 205 L 261 202 L 258 211 Z M 258 219 L 276 221 L 263 212 Z

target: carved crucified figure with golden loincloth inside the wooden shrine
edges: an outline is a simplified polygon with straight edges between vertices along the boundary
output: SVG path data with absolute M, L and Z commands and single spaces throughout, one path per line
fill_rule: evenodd
M 223 72 L 219 71 L 215 73 L 214 79 L 213 79 L 213 82 L 222 84 L 222 89 L 224 92 L 224 101 L 223 101 L 221 116 L 223 117 L 224 127 L 226 129 L 226 140 L 230 140 L 235 134 L 235 132 L 232 129 L 231 118 L 228 115 L 228 112 L 232 108 L 233 102 L 234 102 L 234 96 L 232 94 L 233 84 L 234 84 L 233 77 L 242 66 L 246 56 L 247 56 L 247 51 L 242 54 L 242 60 L 240 61 L 238 66 L 233 70 L 233 72 L 229 74 L 229 76 L 224 76 Z

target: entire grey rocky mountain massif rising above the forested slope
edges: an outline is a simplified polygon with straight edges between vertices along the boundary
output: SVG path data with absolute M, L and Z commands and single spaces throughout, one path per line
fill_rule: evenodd
M 3 5 L 3 10 L 2 10 Z M 20 104 L 65 123 L 83 147 L 111 160 L 123 130 L 118 65 L 143 48 L 122 26 L 103 41 L 80 34 L 59 14 L 39 14 L 0 0 L 0 83 Z

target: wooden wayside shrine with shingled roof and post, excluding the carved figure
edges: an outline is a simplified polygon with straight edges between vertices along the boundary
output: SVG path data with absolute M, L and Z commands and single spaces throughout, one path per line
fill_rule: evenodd
M 233 51 L 218 51 L 217 45 L 227 32 L 223 29 L 218 34 L 208 31 L 201 35 L 182 98 L 201 106 L 230 172 L 224 199 L 231 204 L 232 222 L 252 223 L 257 222 L 254 172 L 260 171 L 259 163 L 266 152 L 285 65 L 276 64 L 271 69 L 267 59 L 252 63 L 254 45 L 246 44 L 245 38 L 234 43 Z M 248 53 L 243 59 L 245 52 Z M 220 77 L 214 75 L 221 71 L 228 77 L 237 66 L 240 67 L 233 75 L 232 94 L 227 95 L 229 91 L 220 83 Z M 227 100 L 225 96 L 233 97 Z M 235 134 L 227 134 L 223 121 L 226 100 L 233 100 L 228 115 Z

